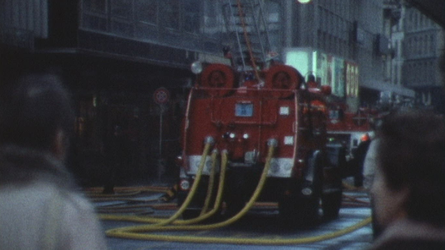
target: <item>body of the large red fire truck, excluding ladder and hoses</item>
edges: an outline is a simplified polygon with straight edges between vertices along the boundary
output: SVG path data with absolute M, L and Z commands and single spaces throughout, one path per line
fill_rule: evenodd
M 199 68 L 199 67 L 198 67 Z M 330 88 L 316 91 L 288 65 L 238 72 L 223 64 L 202 66 L 191 89 L 182 126 L 178 203 L 186 200 L 200 163 L 202 178 L 183 216 L 197 217 L 204 206 L 213 160 L 227 151 L 227 176 L 218 215 L 235 215 L 256 190 L 266 161 L 267 181 L 257 201 L 278 204 L 282 222 L 316 222 L 337 217 L 341 205 L 341 156 L 327 145 Z M 273 156 L 268 148 L 274 144 Z M 203 159 L 205 157 L 205 159 Z M 216 163 L 217 169 L 221 161 Z M 320 208 L 321 204 L 321 209 Z

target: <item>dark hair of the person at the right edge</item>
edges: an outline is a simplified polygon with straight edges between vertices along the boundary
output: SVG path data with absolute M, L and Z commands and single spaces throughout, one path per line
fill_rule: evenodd
M 407 188 L 408 216 L 445 225 L 445 119 L 420 111 L 388 115 L 377 131 L 388 188 Z

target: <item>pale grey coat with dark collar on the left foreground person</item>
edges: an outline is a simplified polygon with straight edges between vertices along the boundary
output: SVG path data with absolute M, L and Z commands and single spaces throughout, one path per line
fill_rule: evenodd
M 0 149 L 0 249 L 106 249 L 91 203 L 49 154 Z

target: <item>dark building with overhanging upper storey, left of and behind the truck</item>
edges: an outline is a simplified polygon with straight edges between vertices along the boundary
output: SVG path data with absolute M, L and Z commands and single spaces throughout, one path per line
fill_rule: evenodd
M 74 94 L 70 163 L 81 184 L 176 176 L 179 124 L 194 81 L 189 67 L 195 60 L 227 63 L 229 2 L 0 1 L 0 74 L 63 76 Z M 280 51 L 280 1 L 261 3 L 277 44 L 271 49 Z M 156 103 L 159 88 L 168 90 L 168 103 Z M 116 131 L 124 143 L 111 147 Z

